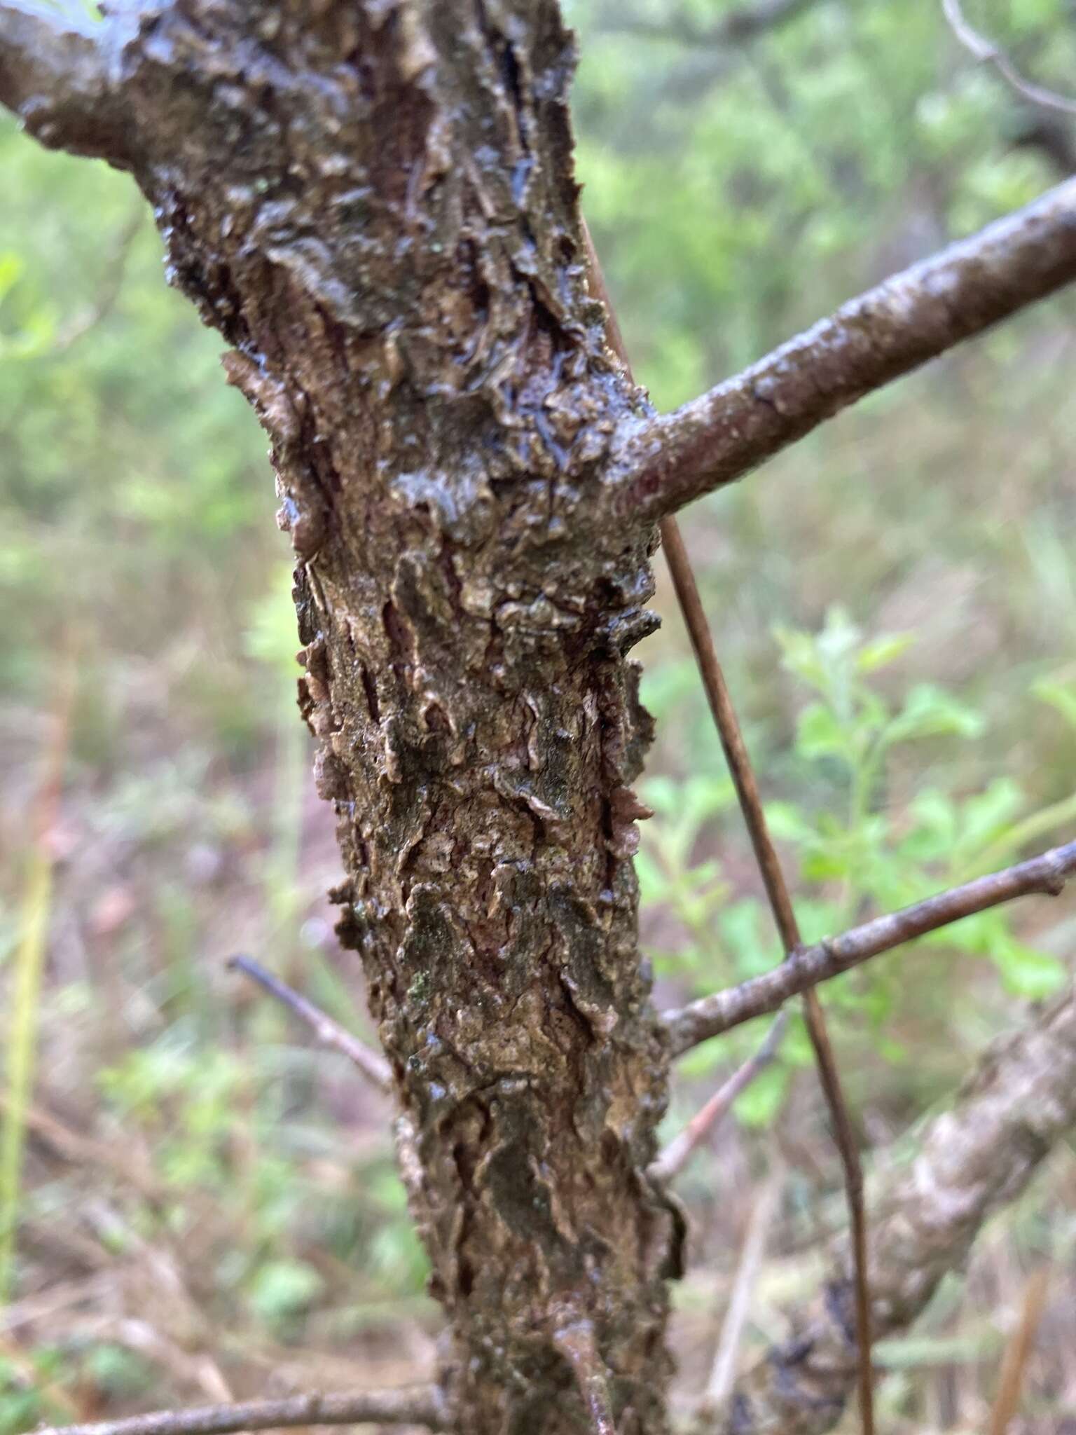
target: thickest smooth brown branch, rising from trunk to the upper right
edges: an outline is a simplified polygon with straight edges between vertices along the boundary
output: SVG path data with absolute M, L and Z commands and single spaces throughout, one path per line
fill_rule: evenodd
M 823 419 L 1076 278 L 1076 179 L 844 304 L 684 405 L 626 432 L 617 517 L 654 522 Z

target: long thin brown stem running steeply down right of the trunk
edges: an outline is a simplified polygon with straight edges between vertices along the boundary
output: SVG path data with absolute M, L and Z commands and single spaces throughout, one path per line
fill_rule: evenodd
M 588 261 L 594 276 L 594 287 L 605 304 L 605 311 L 613 313 L 613 304 L 605 288 L 601 264 L 594 250 L 590 231 L 584 224 Z M 618 326 L 610 329 L 610 342 L 624 364 L 628 376 L 631 366 L 624 349 L 624 339 Z M 706 621 L 703 601 L 699 596 L 699 585 L 692 571 L 692 560 L 687 557 L 680 527 L 671 514 L 661 519 L 661 544 L 664 547 L 669 573 L 680 603 L 687 633 L 692 640 L 696 662 L 706 699 L 710 705 L 714 726 L 725 751 L 729 772 L 736 788 L 736 795 L 743 812 L 743 821 L 750 835 L 755 851 L 755 861 L 762 872 L 762 881 L 769 898 L 770 911 L 776 924 L 785 951 L 793 951 L 801 941 L 799 924 L 792 908 L 785 874 L 780 870 L 778 851 L 766 827 L 766 815 L 762 808 L 762 795 L 750 765 L 743 733 L 732 705 L 732 695 L 725 682 L 722 664 L 717 662 L 717 651 L 713 646 L 710 624 Z M 841 1078 L 834 1059 L 834 1049 L 826 1030 L 822 1004 L 813 990 L 805 992 L 803 1015 L 806 1019 L 811 1046 L 815 1053 L 815 1065 L 822 1086 L 829 1116 L 834 1124 L 834 1138 L 841 1157 L 844 1172 L 845 1195 L 848 1201 L 848 1218 L 852 1227 L 852 1248 L 855 1251 L 855 1309 L 856 1309 L 856 1345 L 859 1352 L 859 1413 L 864 1435 L 874 1435 L 874 1373 L 871 1368 L 871 1297 L 867 1289 L 867 1213 L 864 1210 L 864 1174 L 859 1165 L 859 1152 L 852 1129 L 852 1118 L 848 1112 L 848 1102 L 841 1089 Z

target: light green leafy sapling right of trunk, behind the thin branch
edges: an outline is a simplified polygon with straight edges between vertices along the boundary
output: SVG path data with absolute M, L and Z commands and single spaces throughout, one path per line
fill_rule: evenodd
M 910 634 L 867 640 L 835 607 L 816 633 L 778 627 L 775 636 L 785 669 L 811 693 L 796 719 L 786 769 L 789 786 L 811 796 L 766 808 L 770 832 L 798 875 L 805 941 L 967 881 L 986 870 L 984 857 L 1011 848 L 1011 838 L 1020 837 L 1017 819 L 1036 822 L 1026 794 L 1007 776 L 977 794 L 931 784 L 905 805 L 891 799 L 892 772 L 925 762 L 931 749 L 943 758 L 937 771 L 955 771 L 944 761 L 947 751 L 980 739 L 986 729 L 981 713 L 938 684 L 914 683 L 895 703 L 879 692 L 884 670 L 911 647 Z M 1056 700 L 1050 683 L 1039 693 Z M 1060 706 L 1067 713 L 1067 702 Z M 729 831 L 739 812 L 727 776 L 693 773 L 680 784 L 651 778 L 643 792 L 654 809 L 638 857 L 643 900 L 674 923 L 667 944 L 651 944 L 657 973 L 703 994 L 769 970 L 780 956 L 770 916 L 760 898 L 733 895 L 737 884 L 722 860 L 729 845 L 737 858 L 742 851 Z M 961 953 L 990 961 L 1013 996 L 1039 999 L 1056 990 L 1063 964 L 1020 940 L 1014 923 L 1013 908 L 997 907 L 920 938 L 920 950 L 931 953 L 935 993 L 960 980 L 953 959 Z M 900 971 L 907 961 L 905 953 L 879 959 L 825 990 L 828 1007 L 842 1022 L 867 1023 L 877 1050 L 892 1062 L 907 1059 L 887 1036 L 905 1015 Z M 686 1069 L 702 1073 L 740 1048 L 746 1055 L 758 1042 L 753 1033 L 730 1038 L 732 1053 L 726 1038 L 693 1053 Z M 780 1108 L 788 1068 L 809 1059 L 802 1032 L 795 1032 L 782 1062 L 737 1101 L 739 1119 L 768 1124 Z

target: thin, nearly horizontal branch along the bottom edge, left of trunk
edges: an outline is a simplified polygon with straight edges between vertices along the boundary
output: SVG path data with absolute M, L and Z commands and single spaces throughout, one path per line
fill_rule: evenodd
M 280 1401 L 195 1405 L 154 1411 L 122 1421 L 63 1425 L 37 1435 L 230 1435 L 232 1431 L 285 1429 L 296 1425 L 426 1425 L 443 1431 L 445 1409 L 433 1385 L 334 1395 L 290 1395 Z

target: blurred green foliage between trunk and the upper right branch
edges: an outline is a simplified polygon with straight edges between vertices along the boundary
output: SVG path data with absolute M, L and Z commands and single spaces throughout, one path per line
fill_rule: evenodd
M 677 37 L 729 9 L 567 4 L 584 37 L 585 208 L 636 370 L 663 408 L 865 287 L 879 225 L 898 257 L 915 225 L 938 243 L 1052 181 L 1039 152 L 1010 141 L 1013 92 L 958 50 L 941 6 L 819 0 L 755 44 Z M 1067 92 L 1076 34 L 1063 0 L 990 6 L 983 24 Z M 628 123 L 626 95 L 644 125 Z M 918 187 L 928 217 L 904 204 Z

